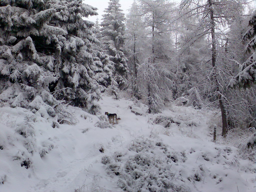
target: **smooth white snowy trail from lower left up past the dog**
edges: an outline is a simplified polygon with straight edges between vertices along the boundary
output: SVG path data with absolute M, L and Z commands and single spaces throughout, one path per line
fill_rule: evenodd
M 90 184 L 93 177 L 99 175 L 99 177 L 103 177 L 105 175 L 104 169 L 101 168 L 103 165 L 100 163 L 101 157 L 104 155 L 99 152 L 101 146 L 105 151 L 111 153 L 111 151 L 114 152 L 117 146 L 122 146 L 127 141 L 130 142 L 134 138 L 142 136 L 142 129 L 148 126 L 146 117 L 140 116 L 138 118 L 128 109 L 132 102 L 103 97 L 103 100 L 99 103 L 102 108 L 101 114 L 104 115 L 106 111 L 116 113 L 121 120 L 118 120 L 118 124 L 114 124 L 112 129 L 94 127 L 96 118 L 93 116 L 86 120 L 80 118 L 79 124 L 75 126 L 61 125 L 60 129 L 66 129 L 66 131 L 52 135 L 58 138 L 59 142 L 56 145 L 63 151 L 56 154 L 62 159 L 61 166 L 48 178 L 41 179 L 34 187 L 35 191 L 71 191 L 84 183 L 83 179 L 77 178 L 78 175 L 84 180 L 87 179 L 86 184 L 89 180 Z M 81 133 L 86 128 L 89 129 L 88 132 Z M 95 166 L 100 168 L 95 168 Z M 100 170 L 97 172 L 91 171 L 92 169 Z M 101 182 L 103 182 L 102 180 L 101 178 Z

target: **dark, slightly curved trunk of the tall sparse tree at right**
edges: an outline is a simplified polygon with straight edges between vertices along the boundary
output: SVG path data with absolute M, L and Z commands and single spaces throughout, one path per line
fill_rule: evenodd
M 215 21 L 214 21 L 214 10 L 212 8 L 212 2 L 211 0 L 208 0 L 208 5 L 210 7 L 210 17 L 211 17 L 211 39 L 212 39 L 212 67 L 215 67 L 216 65 L 216 38 L 215 38 Z M 219 84 L 217 81 L 216 73 L 214 72 L 214 79 L 216 80 L 216 85 L 217 85 L 217 94 L 218 94 L 218 100 L 219 100 L 219 105 L 220 105 L 220 110 L 221 110 L 221 117 L 222 117 L 222 136 L 226 137 L 227 136 L 227 116 L 226 116 L 226 110 L 224 108 L 222 98 L 221 98 L 221 93 L 219 89 Z

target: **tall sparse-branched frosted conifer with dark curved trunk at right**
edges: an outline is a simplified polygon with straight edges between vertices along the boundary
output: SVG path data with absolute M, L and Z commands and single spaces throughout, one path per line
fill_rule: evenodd
M 227 111 L 225 108 L 225 96 L 223 89 L 223 76 L 221 76 L 221 65 L 219 51 L 221 40 L 220 37 L 225 36 L 221 28 L 226 28 L 233 20 L 241 17 L 244 7 L 242 1 L 237 0 L 207 0 L 194 1 L 184 0 L 181 5 L 181 17 L 196 17 L 199 21 L 198 27 L 202 30 L 201 35 L 208 35 L 211 44 L 211 65 L 212 70 L 208 79 L 213 85 L 209 90 L 209 98 L 211 101 L 218 101 L 222 116 L 222 136 L 226 137 L 228 132 Z M 219 32 L 218 32 L 219 31 Z M 201 36 L 200 34 L 197 37 Z

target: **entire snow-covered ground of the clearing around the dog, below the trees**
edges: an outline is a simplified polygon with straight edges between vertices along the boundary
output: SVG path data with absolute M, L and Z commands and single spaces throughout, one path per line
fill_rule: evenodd
M 59 128 L 25 109 L 0 108 L 0 191 L 256 191 L 255 164 L 212 142 L 210 111 L 173 105 L 152 115 L 102 98 L 102 116 L 71 108 L 79 123 Z M 105 112 L 121 120 L 111 126 Z

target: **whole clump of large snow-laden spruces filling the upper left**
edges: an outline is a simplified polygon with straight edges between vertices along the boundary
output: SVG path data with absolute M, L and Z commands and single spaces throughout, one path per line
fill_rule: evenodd
M 81 18 L 95 14 L 81 1 L 1 1 L 0 100 L 74 123 L 65 100 L 99 98 L 91 78 L 93 24 Z

